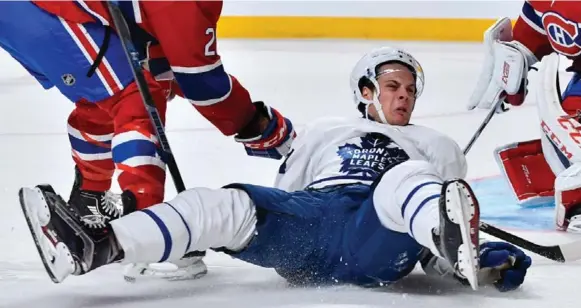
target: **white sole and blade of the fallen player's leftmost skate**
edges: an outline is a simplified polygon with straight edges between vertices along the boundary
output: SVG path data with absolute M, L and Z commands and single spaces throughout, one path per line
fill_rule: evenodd
M 69 248 L 62 242 L 55 242 L 43 228 L 50 222 L 51 214 L 44 195 L 38 188 L 21 188 L 18 192 L 20 206 L 30 233 L 44 264 L 44 268 L 54 283 L 62 282 L 74 273 L 75 261 Z

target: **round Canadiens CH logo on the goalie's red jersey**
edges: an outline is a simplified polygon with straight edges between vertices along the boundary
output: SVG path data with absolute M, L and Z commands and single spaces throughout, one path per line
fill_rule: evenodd
M 555 51 L 565 56 L 581 54 L 579 24 L 555 12 L 547 12 L 543 15 L 543 26 Z

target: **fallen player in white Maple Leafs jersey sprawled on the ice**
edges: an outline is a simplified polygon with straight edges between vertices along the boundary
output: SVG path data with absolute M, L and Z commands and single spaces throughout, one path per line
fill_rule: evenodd
M 47 185 L 20 200 L 54 282 L 112 262 L 163 262 L 213 249 L 274 268 L 289 282 L 395 282 L 417 263 L 476 289 L 520 286 L 531 259 L 479 243 L 479 207 L 458 145 L 409 124 L 424 85 L 408 53 L 380 48 L 351 75 L 363 117 L 332 118 L 293 142 L 275 187 L 193 188 L 110 222 L 95 237 Z

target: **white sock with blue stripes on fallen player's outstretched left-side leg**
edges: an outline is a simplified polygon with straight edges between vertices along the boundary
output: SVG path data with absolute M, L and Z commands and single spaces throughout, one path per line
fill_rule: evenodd
M 239 189 L 194 188 L 111 221 L 124 263 L 178 260 L 212 247 L 237 250 L 255 232 L 256 210 Z

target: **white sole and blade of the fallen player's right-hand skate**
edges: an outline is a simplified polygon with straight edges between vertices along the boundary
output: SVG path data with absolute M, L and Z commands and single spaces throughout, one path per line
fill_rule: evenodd
M 478 219 L 471 223 L 474 216 L 479 217 L 475 200 L 470 190 L 460 182 L 450 183 L 447 187 L 448 218 L 460 227 L 462 244 L 458 247 L 457 272 L 465 277 L 473 290 L 478 290 L 478 271 L 480 260 L 478 256 Z M 454 215 L 459 214 L 460 217 Z

